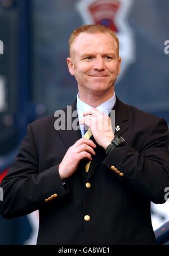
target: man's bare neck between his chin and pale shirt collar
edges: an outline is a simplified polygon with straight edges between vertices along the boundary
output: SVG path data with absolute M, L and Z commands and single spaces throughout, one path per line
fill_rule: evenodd
M 114 90 L 112 92 L 109 92 L 107 94 L 103 93 L 81 93 L 79 92 L 79 99 L 81 101 L 85 102 L 86 104 L 90 105 L 91 107 L 97 107 L 104 103 L 105 101 L 108 101 L 110 98 L 112 98 L 114 95 Z

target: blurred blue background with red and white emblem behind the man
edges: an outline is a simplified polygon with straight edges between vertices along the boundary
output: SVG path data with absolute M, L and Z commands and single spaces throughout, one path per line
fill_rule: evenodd
M 75 99 L 77 84 L 66 66 L 68 38 L 83 24 L 104 24 L 119 36 L 117 96 L 169 124 L 168 14 L 168 0 L 0 0 L 1 179 L 28 123 Z M 152 205 L 154 229 L 169 219 L 168 205 Z M 37 212 L 12 220 L 0 216 L 0 244 L 34 243 L 37 228 Z

